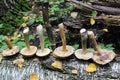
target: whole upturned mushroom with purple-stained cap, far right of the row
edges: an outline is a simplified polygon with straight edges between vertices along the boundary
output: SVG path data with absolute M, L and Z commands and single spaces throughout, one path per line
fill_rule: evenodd
M 93 61 L 95 61 L 98 64 L 105 65 L 115 58 L 116 54 L 113 51 L 100 49 L 98 47 L 94 33 L 92 31 L 88 31 L 88 35 L 90 40 L 92 41 L 93 48 L 95 50 L 94 55 L 92 57 Z

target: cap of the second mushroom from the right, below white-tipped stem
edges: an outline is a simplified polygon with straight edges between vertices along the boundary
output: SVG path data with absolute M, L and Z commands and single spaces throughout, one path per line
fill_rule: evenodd
M 93 57 L 93 51 L 87 50 L 86 53 L 82 53 L 82 49 L 78 49 L 75 51 L 75 56 L 78 59 L 88 60 Z

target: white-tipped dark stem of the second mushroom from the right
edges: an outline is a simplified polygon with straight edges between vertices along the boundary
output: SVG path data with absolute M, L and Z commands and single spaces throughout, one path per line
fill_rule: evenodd
M 87 52 L 87 31 L 86 29 L 81 29 L 80 30 L 80 35 L 81 35 L 81 44 L 82 44 L 82 53 Z

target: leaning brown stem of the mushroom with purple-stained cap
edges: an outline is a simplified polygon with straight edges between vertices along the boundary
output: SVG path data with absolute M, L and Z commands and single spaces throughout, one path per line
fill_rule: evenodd
M 88 31 L 88 35 L 92 41 L 94 50 L 97 51 L 98 55 L 100 55 L 101 54 L 100 48 L 98 47 L 93 31 Z

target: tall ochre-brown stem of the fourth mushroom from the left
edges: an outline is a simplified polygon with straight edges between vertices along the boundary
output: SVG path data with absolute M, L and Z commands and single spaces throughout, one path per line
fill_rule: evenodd
M 59 30 L 60 30 L 60 36 L 62 39 L 62 46 L 63 46 L 63 52 L 66 52 L 66 38 L 65 38 L 65 32 L 64 32 L 64 25 L 63 23 L 59 24 Z

